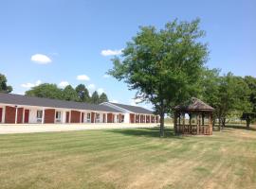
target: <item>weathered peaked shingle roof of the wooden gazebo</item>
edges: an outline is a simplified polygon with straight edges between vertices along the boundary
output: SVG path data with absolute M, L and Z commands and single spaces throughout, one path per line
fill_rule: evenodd
M 184 111 L 184 112 L 190 112 L 190 111 L 207 111 L 207 112 L 213 112 L 214 109 L 203 102 L 202 100 L 192 97 L 187 102 L 178 105 L 174 108 L 175 111 Z

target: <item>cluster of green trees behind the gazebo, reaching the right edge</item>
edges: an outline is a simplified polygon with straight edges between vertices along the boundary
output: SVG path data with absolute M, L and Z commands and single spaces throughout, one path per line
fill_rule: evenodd
M 210 104 L 214 120 L 225 127 L 228 118 L 247 121 L 247 129 L 256 118 L 256 77 L 238 77 L 232 73 L 220 76 L 218 69 L 206 69 L 201 78 L 198 96 Z

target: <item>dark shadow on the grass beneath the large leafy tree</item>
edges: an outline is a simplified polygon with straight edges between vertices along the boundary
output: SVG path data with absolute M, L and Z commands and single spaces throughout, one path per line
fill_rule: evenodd
M 113 133 L 119 133 L 129 136 L 142 136 L 142 137 L 155 137 L 160 138 L 159 128 L 141 128 L 141 129 L 112 129 L 107 130 Z M 163 138 L 175 138 L 175 139 L 184 139 L 183 136 L 177 136 L 174 134 L 174 129 L 165 128 Z

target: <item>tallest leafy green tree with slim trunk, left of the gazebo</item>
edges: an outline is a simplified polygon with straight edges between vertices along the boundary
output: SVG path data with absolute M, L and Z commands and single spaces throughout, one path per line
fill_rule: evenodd
M 113 59 L 108 74 L 124 80 L 136 97 L 151 102 L 160 115 L 160 136 L 164 136 L 164 114 L 198 92 L 198 81 L 208 58 L 201 38 L 199 20 L 167 23 L 163 29 L 141 26 Z

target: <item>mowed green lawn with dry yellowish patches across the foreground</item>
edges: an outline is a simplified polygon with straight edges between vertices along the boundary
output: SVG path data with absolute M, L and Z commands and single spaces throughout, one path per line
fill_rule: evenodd
M 256 188 L 256 131 L 158 129 L 0 135 L 0 188 Z

